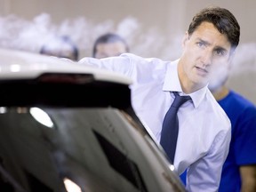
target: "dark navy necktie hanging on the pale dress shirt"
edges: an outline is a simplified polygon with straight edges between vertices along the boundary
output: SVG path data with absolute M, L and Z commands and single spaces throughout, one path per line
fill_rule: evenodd
M 164 116 L 164 123 L 160 140 L 160 144 L 164 148 L 167 156 L 169 156 L 172 164 L 174 162 L 174 155 L 179 133 L 179 120 L 177 112 L 183 103 L 191 100 L 189 96 L 180 96 L 178 92 L 173 93 L 175 95 L 175 99 L 172 102 L 171 108 L 169 108 L 166 115 Z

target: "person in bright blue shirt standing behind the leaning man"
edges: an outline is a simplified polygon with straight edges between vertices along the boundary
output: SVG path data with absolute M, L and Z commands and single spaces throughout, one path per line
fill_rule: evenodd
M 214 98 L 231 121 L 231 142 L 223 165 L 220 192 L 256 191 L 256 107 L 252 101 L 228 88 L 230 63 L 214 71 L 209 84 Z M 186 183 L 186 172 L 180 176 Z

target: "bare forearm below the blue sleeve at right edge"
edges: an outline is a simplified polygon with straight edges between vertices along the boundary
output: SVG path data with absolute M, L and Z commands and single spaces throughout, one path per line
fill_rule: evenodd
M 241 192 L 255 192 L 256 164 L 240 166 L 239 171 L 242 180 Z

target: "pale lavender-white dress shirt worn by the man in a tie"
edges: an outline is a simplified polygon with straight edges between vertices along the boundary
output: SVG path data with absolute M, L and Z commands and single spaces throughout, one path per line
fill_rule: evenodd
M 84 58 L 89 63 L 132 77 L 132 108 L 160 142 L 162 124 L 174 100 L 182 92 L 178 61 L 145 59 L 131 53 L 101 60 Z M 192 100 L 179 111 L 179 136 L 174 167 L 178 174 L 188 168 L 188 191 L 217 191 L 222 164 L 228 156 L 231 125 L 225 112 L 207 86 L 189 94 Z

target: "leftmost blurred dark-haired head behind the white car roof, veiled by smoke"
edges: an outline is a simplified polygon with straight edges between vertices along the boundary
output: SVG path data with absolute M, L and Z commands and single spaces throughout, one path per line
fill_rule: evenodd
M 79 54 L 76 44 L 68 36 L 51 38 L 41 47 L 40 53 L 75 61 Z

